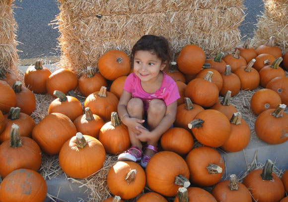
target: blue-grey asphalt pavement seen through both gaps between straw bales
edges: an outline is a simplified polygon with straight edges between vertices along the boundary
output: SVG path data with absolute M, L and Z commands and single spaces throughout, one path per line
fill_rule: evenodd
M 18 25 L 17 50 L 19 59 L 61 56 L 59 30 L 52 21 L 59 14 L 58 0 L 15 0 L 14 17 Z M 244 0 L 245 20 L 239 26 L 243 40 L 254 36 L 257 15 L 263 11 L 263 0 Z

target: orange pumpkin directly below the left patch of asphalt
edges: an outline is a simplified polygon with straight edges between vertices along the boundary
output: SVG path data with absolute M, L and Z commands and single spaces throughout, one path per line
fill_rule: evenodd
M 30 65 L 24 74 L 24 83 L 34 93 L 47 93 L 46 82 L 51 71 L 43 67 L 42 60 L 37 60 L 35 65 Z

